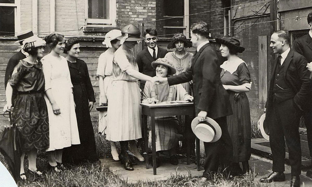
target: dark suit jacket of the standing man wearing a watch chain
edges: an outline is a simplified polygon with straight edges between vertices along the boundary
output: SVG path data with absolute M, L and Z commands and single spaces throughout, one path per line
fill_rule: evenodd
M 272 106 L 273 106 L 273 88 L 275 69 L 277 67 L 278 58 L 274 60 L 271 79 L 268 90 L 268 99 L 266 101 L 266 119 L 270 118 Z M 309 98 L 309 84 L 310 84 L 310 72 L 306 68 L 307 60 L 299 53 L 290 50 L 283 65 L 286 67 L 285 80 L 287 85 L 295 94 L 294 102 L 298 108 L 305 110 L 307 106 L 307 99 Z

